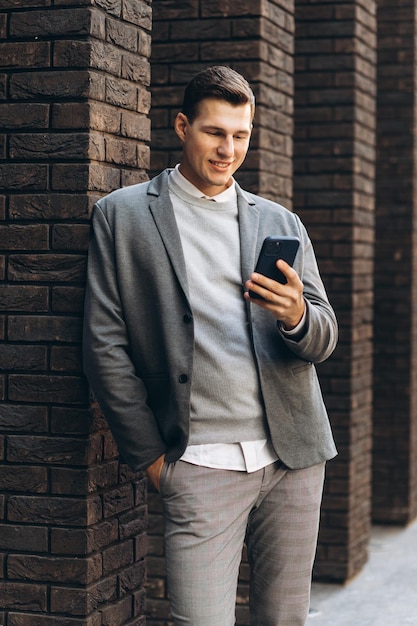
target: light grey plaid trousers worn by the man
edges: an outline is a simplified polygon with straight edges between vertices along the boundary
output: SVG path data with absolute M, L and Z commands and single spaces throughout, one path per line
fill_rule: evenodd
M 251 626 L 305 626 L 325 464 L 256 472 L 177 461 L 161 475 L 175 626 L 233 626 L 246 542 Z

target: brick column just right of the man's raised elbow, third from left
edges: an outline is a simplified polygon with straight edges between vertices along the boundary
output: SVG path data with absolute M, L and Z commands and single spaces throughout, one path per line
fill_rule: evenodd
M 318 579 L 367 559 L 371 499 L 376 7 L 296 1 L 294 206 L 312 237 L 340 341 L 319 368 L 339 456 L 328 464 Z

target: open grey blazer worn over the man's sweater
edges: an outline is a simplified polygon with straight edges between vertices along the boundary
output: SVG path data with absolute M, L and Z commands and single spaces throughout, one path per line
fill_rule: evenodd
M 166 170 L 112 192 L 93 214 L 84 367 L 133 470 L 163 453 L 168 462 L 177 460 L 189 433 L 193 311 L 168 176 Z M 307 303 L 302 337 L 289 339 L 269 312 L 246 306 L 272 444 L 288 467 L 308 467 L 336 454 L 314 367 L 336 346 L 335 315 L 299 218 L 239 186 L 237 193 L 242 294 L 266 236 L 301 240 L 294 267 Z

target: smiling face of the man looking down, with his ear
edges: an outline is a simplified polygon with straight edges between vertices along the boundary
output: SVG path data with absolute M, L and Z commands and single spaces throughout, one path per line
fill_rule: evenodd
M 246 156 L 251 106 L 207 98 L 198 104 L 192 123 L 178 113 L 175 131 L 183 147 L 181 174 L 203 194 L 214 196 L 232 184 L 232 176 Z

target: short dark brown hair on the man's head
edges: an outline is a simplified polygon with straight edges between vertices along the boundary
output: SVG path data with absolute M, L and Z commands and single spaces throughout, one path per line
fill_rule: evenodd
M 250 104 L 252 118 L 255 113 L 255 96 L 248 81 L 226 65 L 215 65 L 202 70 L 191 79 L 185 88 L 182 113 L 193 122 L 201 100 L 216 98 L 235 106 Z

